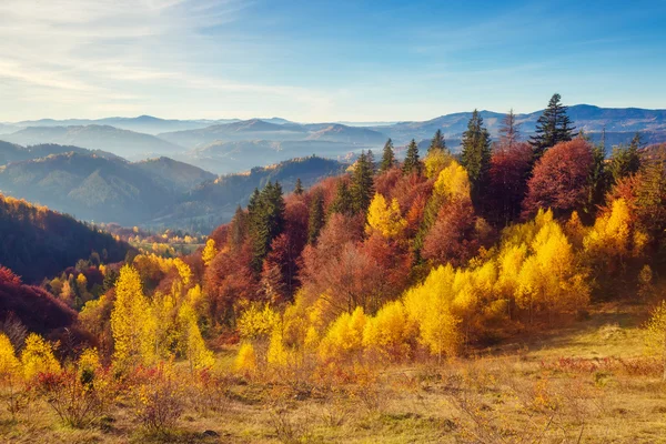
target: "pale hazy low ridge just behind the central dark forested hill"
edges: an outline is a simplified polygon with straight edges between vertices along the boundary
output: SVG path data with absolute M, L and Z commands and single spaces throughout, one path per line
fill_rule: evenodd
M 353 143 L 322 140 L 284 142 L 270 140 L 216 141 L 189 151 L 179 159 L 218 174 L 229 174 L 312 154 L 344 160 L 361 149 L 363 147 Z

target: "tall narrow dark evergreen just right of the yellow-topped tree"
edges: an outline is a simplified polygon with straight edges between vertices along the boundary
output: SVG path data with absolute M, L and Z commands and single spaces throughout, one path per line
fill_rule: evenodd
M 472 198 L 478 199 L 491 167 L 491 135 L 483 125 L 483 118 L 477 110 L 472 113 L 472 119 L 467 123 L 467 131 L 463 133 L 461 160 L 470 175 Z

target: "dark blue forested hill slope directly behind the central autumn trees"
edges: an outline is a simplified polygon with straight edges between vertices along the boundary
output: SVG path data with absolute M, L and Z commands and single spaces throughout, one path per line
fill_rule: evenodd
M 254 168 L 249 173 L 229 174 L 206 182 L 182 196 L 175 205 L 165 209 L 152 225 L 194 228 L 210 232 L 220 223 L 231 220 L 238 205 L 245 205 L 255 188 L 269 181 L 280 182 L 290 193 L 301 179 L 310 186 L 323 178 L 340 174 L 346 165 L 317 157 L 293 159 L 266 168 Z

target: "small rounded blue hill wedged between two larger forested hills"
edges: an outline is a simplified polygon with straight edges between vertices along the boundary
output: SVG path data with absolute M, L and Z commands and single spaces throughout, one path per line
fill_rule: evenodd
M 163 157 L 137 162 L 134 167 L 151 174 L 155 182 L 173 192 L 185 192 L 216 178 L 200 168 Z

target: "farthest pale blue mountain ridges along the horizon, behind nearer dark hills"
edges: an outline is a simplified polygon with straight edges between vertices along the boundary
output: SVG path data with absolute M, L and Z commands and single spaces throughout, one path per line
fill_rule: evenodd
M 517 114 L 524 137 L 534 132 L 541 114 L 541 110 Z M 610 144 L 626 143 L 637 131 L 648 143 L 666 141 L 666 110 L 578 104 L 569 107 L 568 114 L 576 127 L 593 139 L 598 139 L 605 128 Z M 151 115 L 43 119 L 0 123 L 0 140 L 21 145 L 59 143 L 97 149 L 132 161 L 165 155 L 214 173 L 229 173 L 312 153 L 345 159 L 364 149 L 381 149 L 389 138 L 398 148 L 411 139 L 425 145 L 436 130 L 443 131 L 450 148 L 455 151 L 471 115 L 471 112 L 458 112 L 427 121 L 365 124 L 296 123 L 276 117 L 250 120 L 165 120 Z M 496 138 L 505 114 L 481 111 L 481 115 L 491 135 Z

